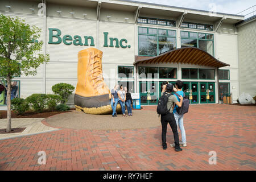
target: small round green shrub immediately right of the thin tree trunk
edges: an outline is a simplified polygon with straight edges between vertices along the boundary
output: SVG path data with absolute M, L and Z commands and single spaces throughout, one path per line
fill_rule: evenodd
M 19 115 L 23 115 L 29 108 L 30 106 L 23 98 L 14 98 L 11 100 L 11 109 Z

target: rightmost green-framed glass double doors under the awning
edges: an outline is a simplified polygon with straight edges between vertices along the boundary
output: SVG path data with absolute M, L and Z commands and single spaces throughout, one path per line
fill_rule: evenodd
M 200 82 L 200 103 L 215 103 L 214 82 Z

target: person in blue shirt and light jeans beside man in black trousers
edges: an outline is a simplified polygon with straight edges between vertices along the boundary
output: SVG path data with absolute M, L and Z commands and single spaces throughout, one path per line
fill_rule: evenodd
M 175 88 L 177 89 L 177 94 L 179 94 L 180 96 L 185 97 L 185 93 L 182 91 L 183 88 L 183 81 L 177 80 L 175 83 Z M 177 98 L 178 101 L 180 101 L 179 97 L 177 97 L 175 95 L 175 97 Z M 176 120 L 177 126 L 179 125 L 180 131 L 181 131 L 181 138 L 182 138 L 182 142 L 180 143 L 181 146 L 183 147 L 187 147 L 187 142 L 186 142 L 186 133 L 185 133 L 185 128 L 183 125 L 183 115 L 181 114 L 179 115 L 177 113 L 177 105 L 175 105 L 174 107 L 174 118 Z M 175 143 L 171 144 L 172 147 L 175 147 Z

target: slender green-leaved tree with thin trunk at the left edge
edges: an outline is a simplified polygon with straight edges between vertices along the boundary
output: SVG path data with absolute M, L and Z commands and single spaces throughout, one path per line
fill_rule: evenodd
M 40 31 L 18 17 L 0 15 L 0 83 L 7 90 L 7 133 L 11 131 L 11 79 L 21 72 L 34 76 L 39 65 L 49 61 L 48 54 L 38 53 L 43 46 L 38 41 Z

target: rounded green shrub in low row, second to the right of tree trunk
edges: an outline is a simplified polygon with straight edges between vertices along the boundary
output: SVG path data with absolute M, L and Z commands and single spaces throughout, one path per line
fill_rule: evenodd
M 41 113 L 47 105 L 47 94 L 34 93 L 27 97 L 26 100 L 36 113 Z

